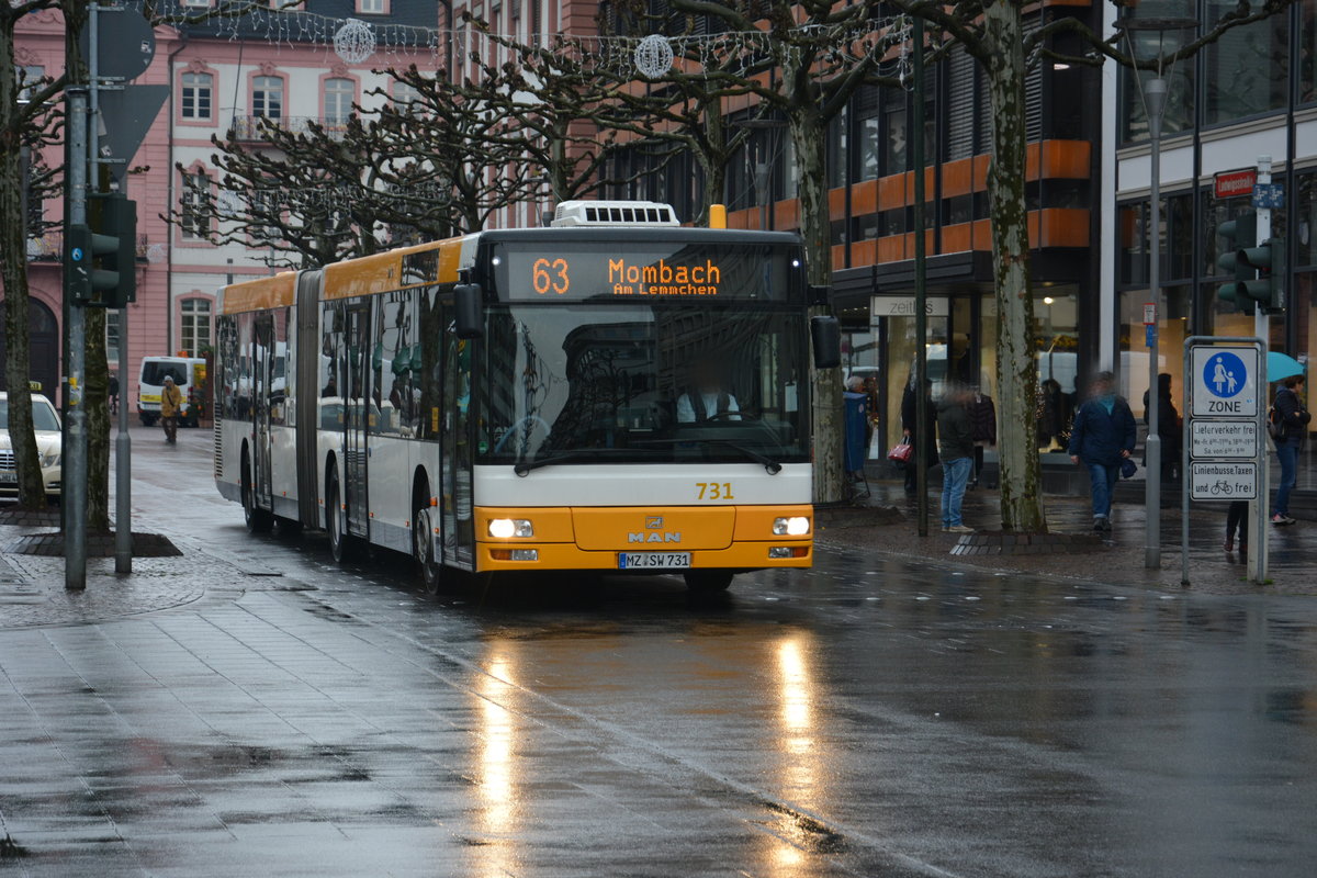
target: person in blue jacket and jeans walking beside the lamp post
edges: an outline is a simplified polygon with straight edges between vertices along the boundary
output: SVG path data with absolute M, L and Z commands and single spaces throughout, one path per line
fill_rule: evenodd
M 1093 486 L 1093 529 L 1112 529 L 1112 491 L 1121 478 L 1121 463 L 1134 454 L 1138 429 L 1130 404 L 1115 395 L 1115 376 L 1098 373 L 1088 386 L 1088 399 L 1075 412 L 1071 429 L 1071 461 L 1088 467 Z

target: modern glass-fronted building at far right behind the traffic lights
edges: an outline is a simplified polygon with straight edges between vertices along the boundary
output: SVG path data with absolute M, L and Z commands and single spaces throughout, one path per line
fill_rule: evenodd
M 1189 0 L 1187 12 L 1210 28 L 1235 9 L 1227 0 Z M 1110 21 L 1108 22 L 1110 24 Z M 1252 336 L 1254 319 L 1220 299 L 1222 222 L 1251 211 L 1247 187 L 1218 174 L 1272 162 L 1284 187 L 1272 233 L 1287 242 L 1285 311 L 1271 317 L 1271 348 L 1306 361 L 1317 348 L 1317 3 L 1304 0 L 1270 20 L 1227 32 L 1180 63 L 1162 141 L 1160 363 L 1176 394 L 1181 344 L 1189 334 Z M 1150 150 L 1137 83 L 1104 78 L 1104 137 L 1114 145 L 1104 168 L 1102 361 L 1119 370 L 1135 413 L 1147 388 L 1143 305 L 1148 296 Z

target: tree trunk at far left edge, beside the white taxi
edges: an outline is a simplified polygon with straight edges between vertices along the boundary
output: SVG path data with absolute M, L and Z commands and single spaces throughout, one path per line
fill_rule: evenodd
M 40 509 L 46 505 L 41 479 L 41 458 L 32 429 L 32 395 L 28 388 L 30 354 L 28 348 L 28 229 L 16 221 L 22 211 L 22 137 L 13 118 L 13 18 L 0 18 L 0 275 L 4 280 L 5 390 L 9 395 L 9 438 L 18 474 L 18 505 Z M 50 388 L 43 388 L 49 390 Z

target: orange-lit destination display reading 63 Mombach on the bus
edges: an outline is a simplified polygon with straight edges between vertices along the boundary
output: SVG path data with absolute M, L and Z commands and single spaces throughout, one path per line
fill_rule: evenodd
M 495 279 L 504 301 L 585 299 L 759 299 L 786 301 L 792 259 L 756 246 L 590 247 L 569 253 L 495 254 Z

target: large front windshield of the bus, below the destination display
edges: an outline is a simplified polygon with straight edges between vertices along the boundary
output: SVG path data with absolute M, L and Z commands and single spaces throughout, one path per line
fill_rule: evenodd
M 479 462 L 806 462 L 803 336 L 763 305 L 493 308 Z

